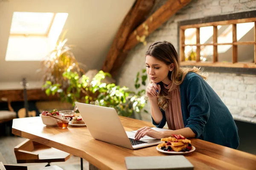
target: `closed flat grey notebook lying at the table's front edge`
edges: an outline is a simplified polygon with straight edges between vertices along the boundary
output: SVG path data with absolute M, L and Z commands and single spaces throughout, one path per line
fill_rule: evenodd
M 194 166 L 183 155 L 128 156 L 127 170 L 193 170 Z

